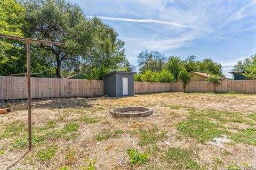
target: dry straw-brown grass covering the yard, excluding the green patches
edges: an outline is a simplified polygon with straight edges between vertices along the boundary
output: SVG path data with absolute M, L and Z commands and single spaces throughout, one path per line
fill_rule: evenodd
M 3 131 L 9 123 L 20 121 L 27 123 L 26 103 L 8 104 L 13 112 L 0 115 L 0 126 Z M 109 109 L 123 106 L 145 106 L 154 109 L 154 114 L 145 118 L 122 118 L 116 119 L 109 116 Z M 175 109 L 171 106 L 180 106 Z M 80 169 L 86 166 L 86 158 L 91 160 L 97 159 L 95 169 L 131 169 L 129 157 L 125 157 L 121 166 L 116 167 L 115 163 L 122 157 L 123 152 L 135 139 L 138 138 L 135 131 L 147 129 L 156 126 L 159 130 L 167 131 L 167 138 L 164 141 L 158 141 L 157 146 L 161 149 L 168 147 L 180 147 L 185 149 L 198 150 L 197 162 L 200 165 L 207 165 L 211 169 L 214 164 L 213 159 L 219 157 L 223 160 L 223 166 L 229 165 L 230 160 L 234 159 L 238 164 L 246 162 L 250 165 L 256 164 L 255 146 L 244 143 L 229 145 L 230 154 L 223 155 L 225 149 L 204 145 L 196 142 L 195 139 L 177 138 L 177 123 L 185 120 L 189 114 L 189 108 L 207 110 L 215 109 L 220 111 L 242 112 L 244 115 L 256 111 L 255 95 L 229 95 L 229 94 L 183 94 L 183 93 L 163 93 L 163 94 L 145 94 L 135 95 L 127 98 L 59 98 L 53 100 L 38 100 L 32 103 L 32 120 L 33 127 L 44 127 L 46 122 L 54 121 L 56 126 L 47 129 L 38 134 L 61 129 L 65 124 L 74 122 L 79 125 L 76 132 L 77 138 L 65 139 L 47 137 L 46 140 L 22 158 L 11 169 L 18 167 L 24 169 L 58 169 L 67 166 L 69 169 Z M 79 118 L 90 117 L 98 120 L 97 123 L 85 123 L 79 121 Z M 229 126 L 252 126 L 234 122 Z M 104 129 L 121 130 L 117 138 L 97 141 L 95 134 L 102 132 Z M 0 134 L 1 134 L 0 130 Z M 19 134 L 18 134 L 19 136 Z M 17 160 L 19 160 L 27 151 L 25 149 L 11 150 L 11 141 L 18 136 L 0 139 L 0 149 L 4 148 L 4 154 L 0 155 L 0 169 L 6 169 Z M 256 139 L 255 139 L 256 140 Z M 170 146 L 166 146 L 168 141 Z M 100 142 L 100 143 L 97 143 Z M 37 152 L 45 146 L 56 145 L 58 151 L 50 159 L 43 162 L 37 157 Z M 134 147 L 139 151 L 145 151 L 148 147 Z M 66 158 L 69 150 L 74 150 L 71 158 Z M 150 158 L 154 166 L 161 164 L 159 158 Z M 148 163 L 150 164 L 150 163 Z M 135 166 L 135 169 L 144 169 L 147 166 Z

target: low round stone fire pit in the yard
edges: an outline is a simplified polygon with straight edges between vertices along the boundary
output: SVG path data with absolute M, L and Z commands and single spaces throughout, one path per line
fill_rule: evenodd
M 110 115 L 112 117 L 146 117 L 153 114 L 153 109 L 134 106 L 134 107 L 121 107 L 117 109 L 111 109 Z

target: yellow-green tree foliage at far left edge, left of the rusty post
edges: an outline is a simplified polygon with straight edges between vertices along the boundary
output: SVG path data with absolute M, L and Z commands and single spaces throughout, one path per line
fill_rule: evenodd
M 0 33 L 23 36 L 25 8 L 15 0 L 0 0 Z M 9 75 L 26 70 L 26 52 L 24 43 L 12 39 L 0 38 L 0 73 Z

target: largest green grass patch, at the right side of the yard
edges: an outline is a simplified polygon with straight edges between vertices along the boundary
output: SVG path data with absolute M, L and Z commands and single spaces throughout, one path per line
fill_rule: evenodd
M 185 137 L 197 139 L 201 143 L 212 140 L 215 137 L 221 137 L 222 134 L 230 136 L 235 142 L 256 145 L 256 129 L 239 129 L 236 133 L 227 130 L 226 124 L 238 122 L 253 125 L 254 121 L 246 120 L 241 113 L 227 111 L 191 111 L 185 121 L 179 122 L 177 130 Z M 232 129 L 232 128 L 230 128 Z

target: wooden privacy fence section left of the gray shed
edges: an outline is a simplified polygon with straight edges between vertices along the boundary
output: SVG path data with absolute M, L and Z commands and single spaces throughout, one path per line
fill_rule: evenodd
M 0 77 L 0 99 L 26 99 L 25 77 Z M 31 78 L 31 98 L 92 97 L 104 95 L 104 81 Z

